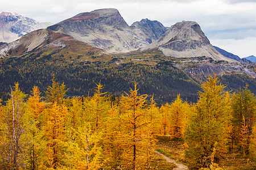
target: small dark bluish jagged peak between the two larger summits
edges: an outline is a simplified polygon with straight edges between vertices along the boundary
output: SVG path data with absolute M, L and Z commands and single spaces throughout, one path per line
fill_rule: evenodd
M 143 37 L 149 44 L 152 41 L 159 39 L 164 32 L 167 31 L 167 28 L 164 25 L 156 20 L 142 19 L 140 22 L 135 22 L 131 25 L 131 29 L 137 35 Z

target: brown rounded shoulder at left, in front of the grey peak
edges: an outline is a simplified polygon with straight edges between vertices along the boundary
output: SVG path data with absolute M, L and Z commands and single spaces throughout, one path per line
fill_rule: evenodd
M 0 58 L 35 56 L 35 54 L 42 57 L 60 53 L 60 50 L 64 48 L 68 49 L 68 51 L 65 50 L 65 54 L 73 53 L 73 57 L 79 54 L 79 50 L 85 50 L 80 54 L 83 56 L 88 56 L 88 51 L 97 52 L 98 55 L 104 53 L 102 49 L 94 48 L 72 36 L 51 29 L 38 29 L 27 33 L 16 41 L 0 44 Z

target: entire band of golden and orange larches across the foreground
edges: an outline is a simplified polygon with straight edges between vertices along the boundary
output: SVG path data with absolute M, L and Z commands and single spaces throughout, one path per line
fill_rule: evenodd
M 184 141 L 191 169 L 214 169 L 230 150 L 256 159 L 255 96 L 230 94 L 215 76 L 194 104 L 177 95 L 158 105 L 136 82 L 119 97 L 100 82 L 92 96 L 69 98 L 54 76 L 46 89 L 26 95 L 15 83 L 0 100 L 0 169 L 156 169 L 156 135 Z

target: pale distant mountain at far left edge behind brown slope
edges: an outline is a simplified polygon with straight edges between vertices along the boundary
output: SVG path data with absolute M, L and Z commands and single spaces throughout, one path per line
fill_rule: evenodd
M 0 14 L 0 42 L 12 42 L 36 29 L 47 28 L 51 23 L 39 23 L 36 20 L 14 12 Z

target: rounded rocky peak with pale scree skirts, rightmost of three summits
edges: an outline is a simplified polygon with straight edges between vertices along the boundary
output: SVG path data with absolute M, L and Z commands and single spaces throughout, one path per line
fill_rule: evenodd
M 142 50 L 158 48 L 167 56 L 200 57 L 207 56 L 215 60 L 235 62 L 222 56 L 210 44 L 200 25 L 196 22 L 179 22 L 171 26 L 160 39 L 152 42 Z

